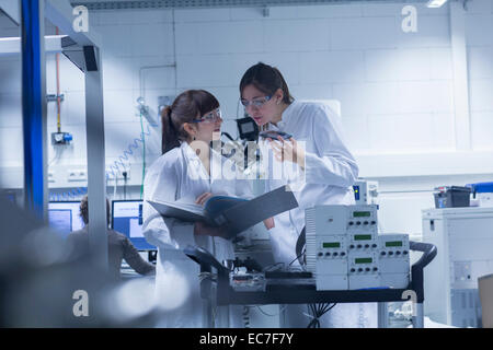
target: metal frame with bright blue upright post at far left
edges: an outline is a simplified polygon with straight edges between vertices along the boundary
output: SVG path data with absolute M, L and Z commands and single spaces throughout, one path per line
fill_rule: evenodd
M 83 52 L 85 74 L 89 247 L 93 262 L 107 269 L 107 215 L 101 38 L 74 32 L 68 1 L 21 0 L 25 206 L 47 218 L 45 16 L 70 37 L 70 52 Z M 62 39 L 64 42 L 64 39 Z M 65 40 L 67 43 L 67 40 Z M 62 45 L 64 46 L 64 45 Z M 70 54 L 67 54 L 70 58 Z

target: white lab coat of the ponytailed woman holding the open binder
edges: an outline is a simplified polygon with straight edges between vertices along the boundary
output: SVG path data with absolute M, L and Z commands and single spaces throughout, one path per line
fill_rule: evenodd
M 163 219 L 147 200 L 174 201 L 186 198 L 191 202 L 204 194 L 251 197 L 245 180 L 225 179 L 218 170 L 231 168 L 231 162 L 211 151 L 209 177 L 200 160 L 183 142 L 161 155 L 148 170 L 145 179 L 144 225 L 146 240 L 158 247 L 156 269 L 157 300 L 165 311 L 160 327 L 203 327 L 203 300 L 199 296 L 199 266 L 182 249 L 198 245 L 220 262 L 234 258 L 232 244 L 221 237 L 195 236 L 193 224 L 176 219 Z M 238 326 L 239 317 L 230 326 Z

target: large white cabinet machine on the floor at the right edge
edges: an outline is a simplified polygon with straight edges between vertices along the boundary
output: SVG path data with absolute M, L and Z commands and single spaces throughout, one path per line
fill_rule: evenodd
M 422 222 L 423 242 L 438 252 L 424 275 L 426 316 L 480 327 L 478 278 L 493 273 L 493 208 L 427 209 Z

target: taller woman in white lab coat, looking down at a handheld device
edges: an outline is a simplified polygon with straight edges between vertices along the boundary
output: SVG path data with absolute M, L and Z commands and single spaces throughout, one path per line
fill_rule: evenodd
M 240 95 L 245 112 L 261 129 L 293 136 L 289 140 L 261 140 L 260 149 L 268 165 L 266 190 L 289 184 L 299 205 L 274 217 L 274 259 L 298 265 L 296 243 L 305 226 L 305 209 L 316 205 L 353 205 L 352 185 L 358 166 L 344 144 L 337 115 L 326 104 L 295 101 L 278 69 L 262 62 L 249 68 L 240 82 Z M 322 318 L 322 326 L 376 326 L 376 317 L 367 308 L 365 304 L 336 305 Z M 287 327 L 306 327 L 311 320 L 301 307 L 286 310 Z

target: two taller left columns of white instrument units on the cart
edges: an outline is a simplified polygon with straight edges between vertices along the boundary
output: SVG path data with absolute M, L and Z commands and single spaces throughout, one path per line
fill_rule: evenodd
M 366 282 L 377 287 L 376 205 L 316 206 L 306 209 L 306 224 L 307 269 L 314 273 L 317 290 L 356 289 Z M 359 266 L 368 258 L 370 266 Z

